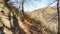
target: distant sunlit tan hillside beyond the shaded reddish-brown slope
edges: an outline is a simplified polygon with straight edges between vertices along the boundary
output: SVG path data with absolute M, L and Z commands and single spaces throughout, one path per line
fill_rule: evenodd
M 54 7 L 45 7 L 31 12 L 32 18 L 39 20 L 43 24 L 45 29 L 48 28 L 52 32 L 58 31 L 57 14 L 57 9 Z

